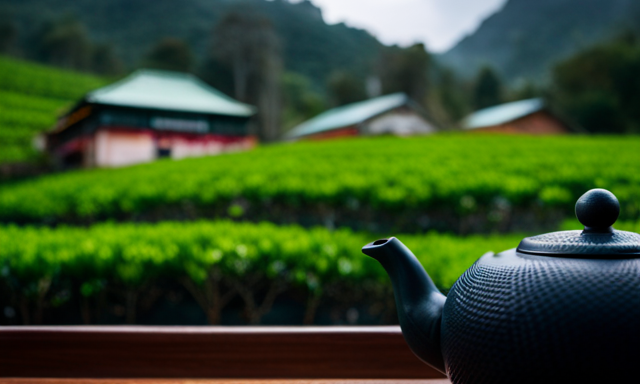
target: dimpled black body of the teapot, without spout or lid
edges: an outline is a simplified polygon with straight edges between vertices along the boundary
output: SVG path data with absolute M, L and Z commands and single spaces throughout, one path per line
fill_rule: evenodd
M 640 260 L 484 256 L 452 287 L 441 340 L 456 384 L 635 376 Z

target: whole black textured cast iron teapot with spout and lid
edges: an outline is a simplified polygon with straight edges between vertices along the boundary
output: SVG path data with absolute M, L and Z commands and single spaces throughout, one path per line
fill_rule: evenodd
M 628 382 L 640 380 L 640 235 L 611 227 L 619 212 L 592 189 L 576 204 L 583 231 L 487 253 L 447 297 L 398 239 L 362 252 L 391 278 L 409 347 L 455 384 Z

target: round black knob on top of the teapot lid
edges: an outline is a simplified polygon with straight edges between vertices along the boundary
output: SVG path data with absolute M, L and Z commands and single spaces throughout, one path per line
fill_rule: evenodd
M 586 233 L 612 232 L 611 226 L 618 220 L 620 203 L 606 189 L 591 189 L 580 196 L 576 203 L 576 217 Z

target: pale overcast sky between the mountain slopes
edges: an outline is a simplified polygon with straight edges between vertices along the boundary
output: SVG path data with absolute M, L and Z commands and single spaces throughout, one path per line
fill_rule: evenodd
M 311 0 L 329 24 L 366 29 L 385 44 L 425 43 L 443 52 L 506 0 Z

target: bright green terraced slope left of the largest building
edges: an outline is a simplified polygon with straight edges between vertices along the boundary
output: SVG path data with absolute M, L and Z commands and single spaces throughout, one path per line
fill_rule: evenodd
M 37 157 L 34 137 L 106 80 L 0 56 L 0 163 Z

